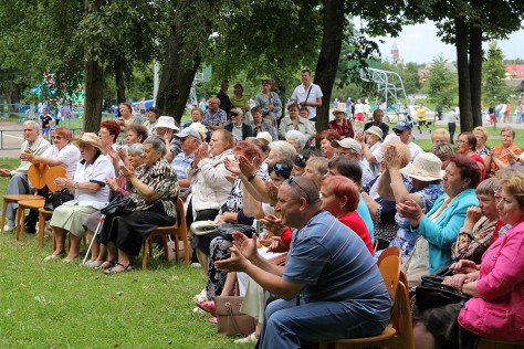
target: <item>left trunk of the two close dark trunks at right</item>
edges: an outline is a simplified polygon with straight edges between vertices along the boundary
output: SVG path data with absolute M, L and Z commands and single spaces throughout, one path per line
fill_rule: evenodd
M 463 18 L 455 18 L 457 39 L 457 68 L 459 74 L 459 107 L 460 107 L 460 129 L 473 129 L 473 114 L 471 109 L 471 84 L 468 60 L 468 25 Z

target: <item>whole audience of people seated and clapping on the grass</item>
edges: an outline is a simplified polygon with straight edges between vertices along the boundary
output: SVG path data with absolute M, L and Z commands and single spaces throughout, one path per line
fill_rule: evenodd
M 501 145 L 491 150 L 484 128 L 459 134 L 457 147 L 437 129 L 425 152 L 411 141 L 409 124 L 400 121 L 389 133 L 377 110 L 365 131 L 355 131 L 345 107 L 337 108 L 329 129 L 316 135 L 301 105 L 276 101 L 271 82 L 250 110 L 252 120 L 247 107 L 226 114 L 211 99 L 211 110 L 191 110 L 192 121 L 181 129 L 155 109 L 148 110 L 149 124 L 140 125 L 122 104 L 122 118 L 102 123 L 98 135 L 73 138 L 57 127 L 53 146 L 40 139 L 38 125 L 27 123 L 21 167 L 9 173 L 8 190 L 31 192 L 27 168 L 46 163 L 67 169 L 55 184 L 74 194 L 53 212 L 56 246 L 45 261 L 77 260 L 82 237 L 98 231 L 90 237 L 95 243 L 86 264 L 106 274 L 128 272 L 149 234 L 172 225 L 177 214 L 186 215 L 188 228 L 199 221 L 262 223 L 271 236 L 234 233 L 231 241 L 213 232 L 191 240 L 206 275 L 196 309 L 213 314 L 214 297 L 243 284 L 242 311 L 259 326 L 241 341 L 275 348 L 380 334 L 391 299 L 378 282 L 376 260 L 388 246 L 400 247 L 410 288 L 449 268 L 454 275 L 444 283 L 472 296 L 467 307 L 416 311 L 418 348 L 431 348 L 438 337 L 524 339 L 518 335 L 524 266 L 517 257 L 524 171 L 513 129 L 502 128 Z M 116 195 L 130 198 L 132 211 L 101 221 L 99 210 Z M 179 197 L 185 212 L 177 212 Z M 284 267 L 269 262 L 283 252 Z M 280 299 L 265 308 L 270 294 Z M 482 321 L 486 308 L 506 311 L 511 320 Z M 452 324 L 442 324 L 449 318 Z M 360 326 L 349 330 L 354 322 Z M 501 331 L 504 326 L 514 335 Z

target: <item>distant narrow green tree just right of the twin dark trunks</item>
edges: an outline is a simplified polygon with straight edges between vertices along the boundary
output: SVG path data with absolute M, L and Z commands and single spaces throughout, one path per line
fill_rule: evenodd
M 492 41 L 482 71 L 482 84 L 484 86 L 482 96 L 485 104 L 497 104 L 509 97 L 511 91 L 504 82 L 505 74 L 504 54 L 496 41 Z

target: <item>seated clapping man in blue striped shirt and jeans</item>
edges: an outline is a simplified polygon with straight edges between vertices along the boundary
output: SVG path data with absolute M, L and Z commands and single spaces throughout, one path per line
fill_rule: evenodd
M 234 234 L 231 258 L 219 268 L 244 272 L 279 296 L 265 310 L 260 348 L 300 348 L 337 338 L 379 335 L 391 300 L 361 239 L 321 209 L 318 188 L 295 177 L 279 190 L 275 211 L 293 226 L 285 267 L 258 255 L 256 237 Z

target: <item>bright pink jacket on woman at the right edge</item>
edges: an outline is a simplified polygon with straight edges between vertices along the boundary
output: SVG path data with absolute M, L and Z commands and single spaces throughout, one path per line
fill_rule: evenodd
M 524 222 L 496 240 L 482 256 L 480 296 L 459 314 L 459 324 L 479 336 L 524 340 Z

